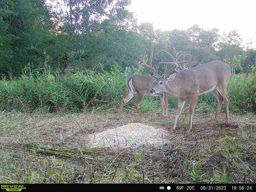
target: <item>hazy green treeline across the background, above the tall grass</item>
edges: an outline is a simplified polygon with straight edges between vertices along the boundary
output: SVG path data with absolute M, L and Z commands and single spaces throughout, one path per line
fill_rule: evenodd
M 256 50 L 242 47 L 237 31 L 223 36 L 216 28 L 154 30 L 137 25 L 127 10 L 130 0 L 1 0 L 0 72 L 16 76 L 23 69 L 104 69 L 137 66 L 144 47 L 154 47 L 153 62 L 168 59 L 161 49 L 192 55 L 199 63 L 226 61 L 232 72 L 248 72 Z M 171 23 L 170 23 L 171 25 Z M 188 57 L 188 55 L 187 55 Z M 99 67 L 101 66 L 101 67 Z

